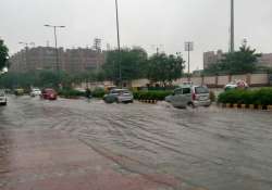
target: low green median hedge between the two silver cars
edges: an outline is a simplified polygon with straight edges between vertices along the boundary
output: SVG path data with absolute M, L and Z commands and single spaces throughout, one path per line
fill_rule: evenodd
M 165 97 L 172 94 L 172 91 L 136 91 L 133 93 L 136 100 L 158 100 L 162 101 Z

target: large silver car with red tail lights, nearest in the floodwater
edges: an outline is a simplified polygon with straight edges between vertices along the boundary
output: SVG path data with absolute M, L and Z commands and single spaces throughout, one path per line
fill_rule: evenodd
M 205 86 L 181 86 L 174 90 L 172 96 L 165 98 L 175 107 L 185 109 L 186 106 L 210 106 L 210 92 Z

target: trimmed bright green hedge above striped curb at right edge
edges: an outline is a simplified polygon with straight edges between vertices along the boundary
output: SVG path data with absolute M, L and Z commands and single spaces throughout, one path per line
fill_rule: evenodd
M 220 103 L 272 105 L 272 88 L 231 90 L 219 96 Z

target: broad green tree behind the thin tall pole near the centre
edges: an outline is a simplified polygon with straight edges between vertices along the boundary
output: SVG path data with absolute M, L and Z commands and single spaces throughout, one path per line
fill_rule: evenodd
M 103 76 L 114 81 L 119 80 L 120 65 L 123 80 L 137 79 L 145 76 L 147 52 L 141 48 L 109 51 L 102 66 Z

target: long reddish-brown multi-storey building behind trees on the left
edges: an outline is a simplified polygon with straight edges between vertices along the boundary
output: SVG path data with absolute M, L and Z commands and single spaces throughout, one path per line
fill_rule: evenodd
M 98 69 L 104 62 L 102 52 L 91 49 L 59 48 L 59 65 L 61 71 L 82 73 Z M 15 53 L 10 59 L 11 72 L 26 73 L 39 69 L 57 71 L 55 49 L 51 47 L 27 48 Z

